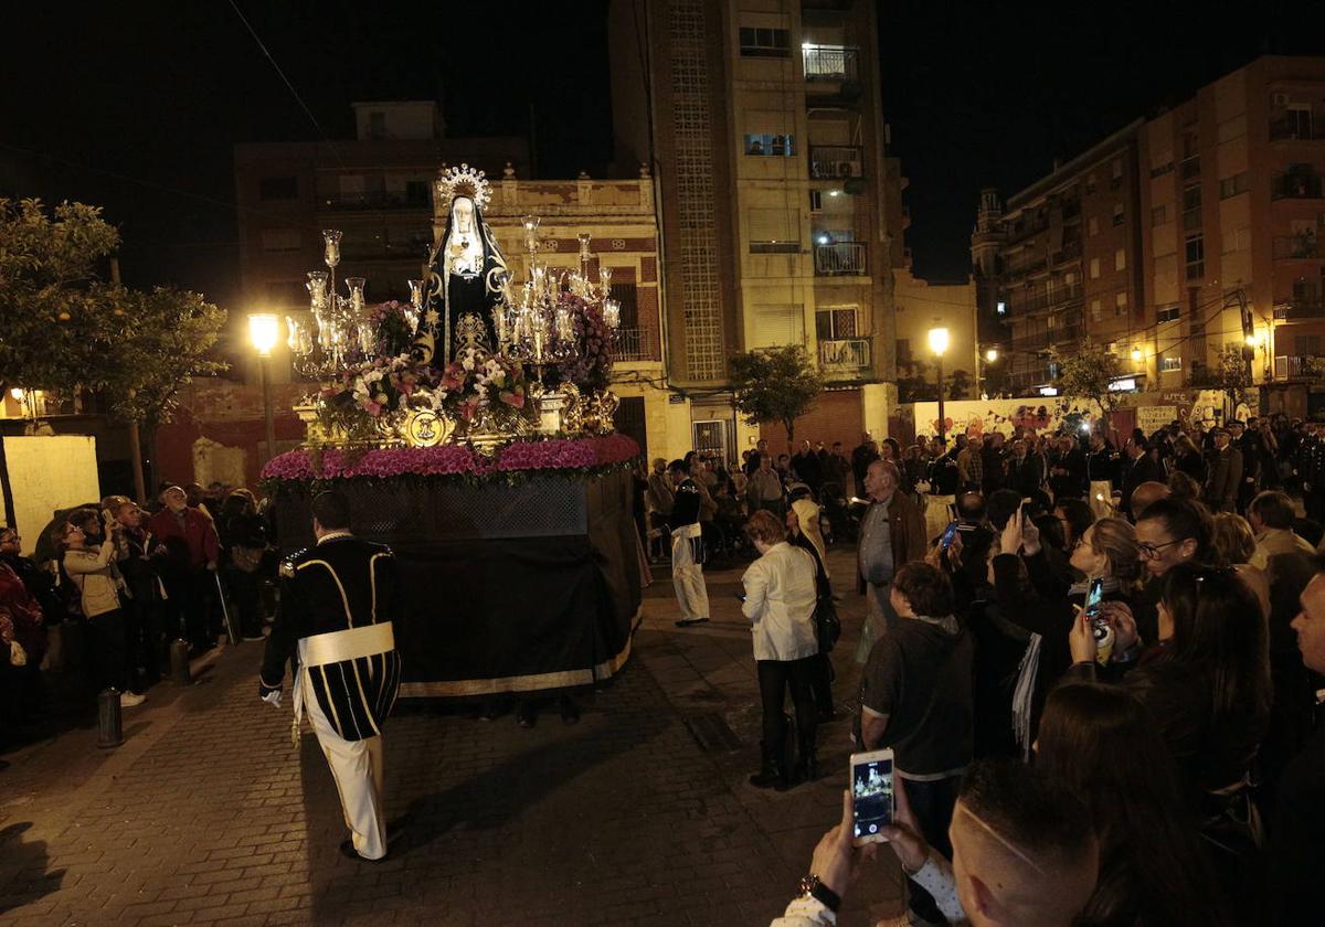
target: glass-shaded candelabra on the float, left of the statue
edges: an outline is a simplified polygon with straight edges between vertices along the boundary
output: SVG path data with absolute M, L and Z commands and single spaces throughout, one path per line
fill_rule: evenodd
M 294 368 L 302 375 L 315 379 L 330 379 L 348 364 L 372 355 L 374 331 L 368 322 L 363 298 L 364 278 L 347 277 L 347 294 L 337 293 L 335 269 L 341 264 L 341 233 L 335 229 L 322 232 L 325 244 L 323 262 L 326 270 L 310 270 L 309 309 L 313 311 L 313 326 L 286 317 L 289 326 L 288 346 Z M 411 281 L 411 291 L 413 283 Z M 421 283 L 419 299 L 421 299 Z M 415 303 L 415 311 L 419 309 Z

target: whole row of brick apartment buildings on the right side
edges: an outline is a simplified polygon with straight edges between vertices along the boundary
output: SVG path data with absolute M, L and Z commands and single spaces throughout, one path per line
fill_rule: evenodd
M 1325 408 L 1325 58 L 1267 56 L 999 203 L 971 237 L 1002 385 L 1112 346 L 1138 389 L 1216 381 L 1239 351 L 1271 411 Z M 992 375 L 991 381 L 998 381 Z

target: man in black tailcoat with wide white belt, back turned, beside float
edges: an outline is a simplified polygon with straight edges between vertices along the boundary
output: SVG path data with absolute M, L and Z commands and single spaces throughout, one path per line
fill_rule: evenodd
M 280 707 L 285 665 L 298 658 L 294 740 L 306 712 L 351 832 L 341 852 L 382 859 L 382 726 L 400 687 L 392 638 L 401 603 L 396 559 L 391 548 L 350 534 L 350 505 L 339 493 L 313 499 L 313 534 L 315 547 L 281 564 L 281 609 L 266 640 L 258 694 Z

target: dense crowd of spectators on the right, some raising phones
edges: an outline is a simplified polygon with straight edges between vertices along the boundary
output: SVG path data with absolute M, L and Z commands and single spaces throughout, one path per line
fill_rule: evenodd
M 889 563 L 853 734 L 894 751 L 909 923 L 1316 922 L 1325 425 L 954 444 L 910 449 L 941 518 Z M 867 491 L 896 470 L 867 460 Z M 780 927 L 871 891 L 845 812 Z

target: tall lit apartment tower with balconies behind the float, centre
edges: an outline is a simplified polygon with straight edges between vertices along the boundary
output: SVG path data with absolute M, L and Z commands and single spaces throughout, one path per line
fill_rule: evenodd
M 693 445 L 735 457 L 726 359 L 804 344 L 829 381 L 818 440 L 886 428 L 902 179 L 880 110 L 874 4 L 617 0 L 619 158 L 653 166 L 669 377 Z

